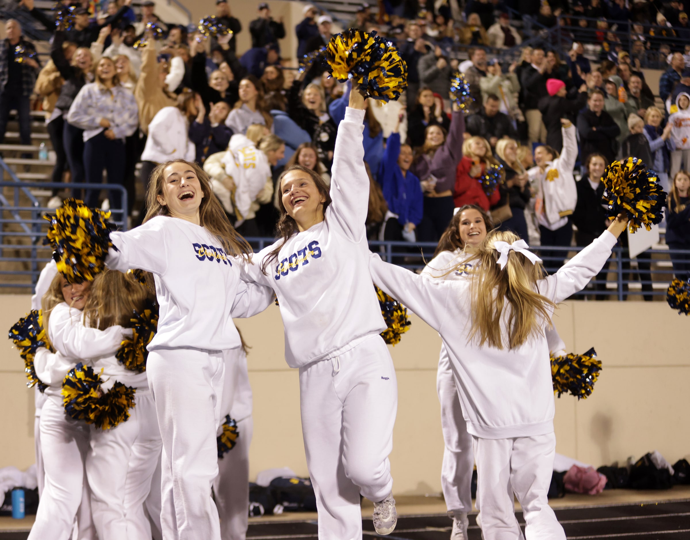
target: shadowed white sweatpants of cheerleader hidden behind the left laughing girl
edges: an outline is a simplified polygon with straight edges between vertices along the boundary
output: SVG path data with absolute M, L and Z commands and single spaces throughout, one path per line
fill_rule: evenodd
M 245 540 L 249 525 L 249 445 L 254 432 L 251 416 L 237 422 L 237 444 L 218 460 L 213 492 L 220 516 L 222 540 Z

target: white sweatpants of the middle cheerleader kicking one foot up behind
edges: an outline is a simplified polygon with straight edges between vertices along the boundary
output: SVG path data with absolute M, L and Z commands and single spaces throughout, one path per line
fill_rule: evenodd
M 299 368 L 302 434 L 319 512 L 319 540 L 362 538 L 359 494 L 382 501 L 393 479 L 397 380 L 373 336 L 331 360 Z

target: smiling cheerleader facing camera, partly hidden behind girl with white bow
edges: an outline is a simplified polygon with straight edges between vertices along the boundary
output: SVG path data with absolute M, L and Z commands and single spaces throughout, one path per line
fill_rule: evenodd
M 491 216 L 479 206 L 468 204 L 457 209 L 441 237 L 434 258 L 426 265 L 422 275 L 446 280 L 469 277 L 472 263 L 466 260 L 484 242 L 487 231 L 491 229 Z M 565 354 L 565 345 L 555 329 L 546 329 L 546 340 L 549 350 L 555 351 L 556 356 Z M 472 436 L 467 432 L 451 362 L 443 344 L 438 360 L 436 390 L 441 403 L 444 441 L 441 487 L 448 515 L 453 519 L 451 540 L 466 540 L 469 525 L 467 514 L 472 510 Z

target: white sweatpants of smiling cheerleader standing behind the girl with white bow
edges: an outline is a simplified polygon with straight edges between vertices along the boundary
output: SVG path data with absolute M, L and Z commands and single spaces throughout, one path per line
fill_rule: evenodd
M 462 416 L 455 375 L 445 345 L 441 345 L 438 360 L 436 391 L 441 402 L 444 442 L 441 488 L 446 499 L 446 508 L 449 515 L 456 512 L 468 513 L 472 511 L 472 436 L 467 432 L 467 423 Z

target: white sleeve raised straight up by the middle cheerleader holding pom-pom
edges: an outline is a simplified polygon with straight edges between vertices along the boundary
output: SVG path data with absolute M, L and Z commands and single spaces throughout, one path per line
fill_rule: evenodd
M 328 213 L 348 238 L 359 242 L 366 231 L 369 177 L 364 167 L 364 110 L 346 108 L 338 126 L 333 153 L 331 199 Z M 375 171 L 373 171 L 375 173 Z

